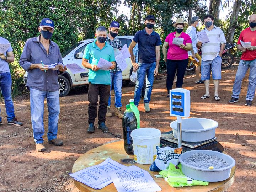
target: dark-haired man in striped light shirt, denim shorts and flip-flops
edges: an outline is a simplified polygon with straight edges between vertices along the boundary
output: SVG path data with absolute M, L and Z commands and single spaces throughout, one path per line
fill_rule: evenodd
M 219 82 L 221 79 L 221 63 L 222 53 L 225 48 L 226 39 L 223 31 L 213 25 L 214 18 L 212 15 L 204 16 L 204 25 L 206 26 L 202 31 L 206 32 L 209 42 L 203 43 L 198 42 L 197 48 L 202 46 L 202 64 L 201 64 L 201 80 L 204 81 L 206 93 L 201 99 L 210 97 L 209 84 L 210 84 L 210 73 L 212 71 L 212 78 L 214 84 L 214 99 L 220 100 L 218 95 Z

